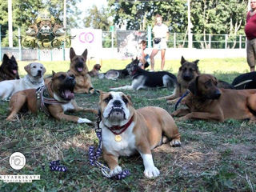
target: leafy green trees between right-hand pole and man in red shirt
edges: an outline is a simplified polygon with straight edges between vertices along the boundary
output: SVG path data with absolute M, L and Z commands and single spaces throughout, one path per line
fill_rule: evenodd
M 228 34 L 233 40 L 237 34 L 244 34 L 246 6 L 245 0 L 191 0 L 192 31 L 194 34 L 203 34 L 202 48 L 208 46 L 206 34 Z M 202 36 L 196 38 L 199 40 Z

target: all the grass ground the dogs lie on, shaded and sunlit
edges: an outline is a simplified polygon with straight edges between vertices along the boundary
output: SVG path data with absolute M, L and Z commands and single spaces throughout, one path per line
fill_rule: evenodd
M 103 61 L 102 71 L 122 69 L 129 61 Z M 25 74 L 18 63 L 20 74 Z M 68 62 L 43 62 L 47 73 L 67 70 Z M 156 67 L 159 67 L 159 61 Z M 91 69 L 94 62 L 90 62 Z M 166 69 L 177 74 L 179 61 L 167 61 Z M 158 69 L 158 68 L 157 68 Z M 214 74 L 232 82 L 239 73 L 248 72 L 244 58 L 202 59 L 201 72 Z M 120 81 L 92 79 L 98 90 L 130 84 L 130 79 Z M 170 90 L 130 90 L 136 109 L 142 106 L 161 106 L 169 112 L 174 105 L 165 101 L 149 100 L 169 95 Z M 98 108 L 98 96 L 76 94 L 79 106 Z M 228 120 L 224 123 L 187 121 L 176 122 L 182 135 L 182 146 L 159 146 L 153 150 L 154 163 L 161 174 L 158 178 L 143 176 L 142 158 L 134 155 L 119 159 L 120 166 L 130 170 L 130 177 L 114 181 L 102 176 L 97 167 L 88 162 L 88 148 L 97 146 L 94 126 L 72 122 L 57 122 L 41 112 L 21 114 L 18 122 L 6 122 L 8 103 L 0 102 L 0 174 L 40 174 L 41 180 L 32 183 L 3 183 L 0 191 L 253 191 L 256 187 L 256 126 L 248 121 Z M 179 106 L 181 107 L 181 106 Z M 93 114 L 78 113 L 96 121 Z M 15 151 L 26 156 L 26 166 L 13 170 L 9 157 Z M 61 159 L 68 167 L 66 173 L 52 172 L 49 162 Z M 102 158 L 100 158 L 102 161 Z M 46 169 L 42 170 L 42 164 Z

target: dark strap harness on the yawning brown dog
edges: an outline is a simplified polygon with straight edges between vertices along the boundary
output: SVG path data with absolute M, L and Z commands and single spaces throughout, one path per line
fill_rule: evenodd
M 50 111 L 46 105 L 59 105 L 66 102 L 59 102 L 55 98 L 51 98 L 48 90 L 48 86 L 40 86 L 36 91 L 38 109 L 43 111 L 46 115 L 50 116 Z

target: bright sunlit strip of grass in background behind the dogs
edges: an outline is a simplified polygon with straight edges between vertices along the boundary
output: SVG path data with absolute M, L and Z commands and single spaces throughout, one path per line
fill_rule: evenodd
M 194 61 L 189 59 L 189 61 Z M 46 67 L 46 75 L 51 74 L 52 70 L 55 72 L 58 71 L 67 71 L 70 68 L 70 61 L 63 62 L 42 62 L 42 64 Z M 29 64 L 30 62 L 18 62 L 19 73 L 23 76 L 26 74 L 24 70 L 24 66 Z M 96 63 L 95 60 L 91 60 L 87 62 L 89 70 L 91 70 Z M 102 60 L 102 72 L 106 72 L 110 69 L 121 70 L 130 63 L 130 60 L 118 60 L 118 59 L 106 59 Z M 155 70 L 160 70 L 161 60 L 155 60 Z M 178 68 L 180 67 L 180 60 L 166 60 L 165 70 L 169 70 L 170 72 L 177 74 Z M 207 74 L 229 74 L 229 73 L 246 73 L 249 72 L 249 66 L 247 65 L 246 58 L 205 58 L 198 62 L 198 67 L 201 73 Z

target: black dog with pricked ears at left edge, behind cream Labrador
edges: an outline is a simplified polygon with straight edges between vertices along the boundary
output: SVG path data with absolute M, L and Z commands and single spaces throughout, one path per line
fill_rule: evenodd
M 16 62 L 14 56 L 9 58 L 7 54 L 4 54 L 2 65 L 0 66 L 0 82 L 13 79 L 19 79 L 18 63 Z

